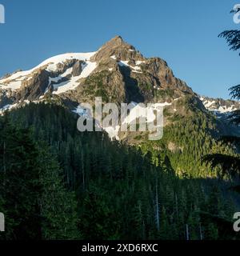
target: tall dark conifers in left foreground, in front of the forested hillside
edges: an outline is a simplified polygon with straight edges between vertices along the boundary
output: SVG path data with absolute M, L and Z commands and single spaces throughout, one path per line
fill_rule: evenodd
M 64 187 L 58 162 L 7 114 L 0 122 L 0 162 L 5 238 L 79 238 L 74 195 Z

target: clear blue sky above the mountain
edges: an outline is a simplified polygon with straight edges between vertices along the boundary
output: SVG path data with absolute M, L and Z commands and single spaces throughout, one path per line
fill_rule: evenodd
M 240 83 L 237 52 L 222 30 L 240 29 L 230 10 L 240 0 L 0 0 L 0 76 L 65 52 L 86 52 L 122 35 L 146 57 L 164 58 L 199 94 L 229 98 Z

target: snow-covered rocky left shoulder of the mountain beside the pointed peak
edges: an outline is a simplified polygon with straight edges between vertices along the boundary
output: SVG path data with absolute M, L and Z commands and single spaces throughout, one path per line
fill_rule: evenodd
M 61 94 L 74 90 L 78 80 L 86 78 L 96 68 L 88 54 L 61 54 L 49 58 L 32 70 L 17 71 L 0 80 L 2 101 L 39 100 L 50 90 Z

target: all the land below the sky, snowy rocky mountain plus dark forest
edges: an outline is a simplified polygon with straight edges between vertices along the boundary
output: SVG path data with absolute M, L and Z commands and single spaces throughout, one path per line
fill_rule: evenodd
M 81 104 L 96 97 L 132 110 L 163 106 L 163 138 L 150 141 L 148 132 L 122 132 L 119 124 L 79 132 Z M 0 206 L 11 221 L 4 239 L 236 238 L 239 202 L 229 188 L 237 181 L 202 161 L 238 154 L 218 141 L 238 135 L 234 110 L 240 102 L 199 96 L 164 60 L 145 58 L 120 36 L 97 51 L 6 74 Z

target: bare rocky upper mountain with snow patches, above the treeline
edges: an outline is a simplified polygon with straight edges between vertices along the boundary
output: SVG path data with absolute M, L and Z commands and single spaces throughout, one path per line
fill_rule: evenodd
M 100 96 L 103 102 L 118 106 L 122 102 L 163 103 L 169 115 L 239 107 L 236 102 L 200 99 L 186 82 L 174 77 L 164 60 L 143 57 L 119 36 L 97 52 L 61 54 L 32 70 L 18 70 L 0 79 L 0 112 L 4 107 L 46 98 L 62 101 L 74 110 L 78 104 L 94 103 Z M 165 124 L 168 122 L 166 115 Z

